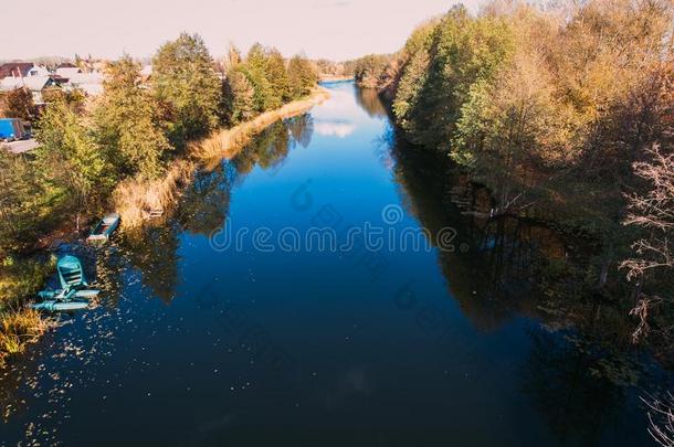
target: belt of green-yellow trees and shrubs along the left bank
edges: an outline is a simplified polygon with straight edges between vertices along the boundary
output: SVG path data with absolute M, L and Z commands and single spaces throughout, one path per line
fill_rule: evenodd
M 78 233 L 134 189 L 175 182 L 191 141 L 305 98 L 316 83 L 304 56 L 257 43 L 215 61 L 199 35 L 181 34 L 158 50 L 149 79 L 125 55 L 107 64 L 101 96 L 49 95 L 40 147 L 0 151 L 0 363 L 48 328 L 23 305 L 53 272 L 49 257 L 31 256 L 51 235 Z

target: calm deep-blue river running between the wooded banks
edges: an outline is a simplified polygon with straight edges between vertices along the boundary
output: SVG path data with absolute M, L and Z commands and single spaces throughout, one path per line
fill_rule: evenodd
M 561 302 L 577 251 L 470 215 L 373 93 L 326 86 L 155 226 L 65 248 L 103 298 L 3 373 L 2 444 L 652 445 L 671 375 L 624 309 Z

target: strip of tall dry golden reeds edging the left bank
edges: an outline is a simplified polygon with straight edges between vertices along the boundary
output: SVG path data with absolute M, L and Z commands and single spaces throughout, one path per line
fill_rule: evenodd
M 210 137 L 188 146 L 187 157 L 172 162 L 167 173 L 157 180 L 128 179 L 117 185 L 113 203 L 125 227 L 139 227 L 154 210 L 171 210 L 180 187 L 187 183 L 197 166 L 214 167 L 220 160 L 233 158 L 250 140 L 266 127 L 280 119 L 291 118 L 305 113 L 329 97 L 326 88 L 317 87 L 305 98 L 265 111 L 250 121 L 229 129 L 214 131 Z

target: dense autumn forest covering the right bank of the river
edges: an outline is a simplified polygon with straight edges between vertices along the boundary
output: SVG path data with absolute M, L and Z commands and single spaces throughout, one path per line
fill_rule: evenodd
M 674 345 L 672 3 L 455 7 L 393 55 L 354 64 L 406 138 L 493 194 L 489 215 L 547 222 L 593 247 L 577 273 Z

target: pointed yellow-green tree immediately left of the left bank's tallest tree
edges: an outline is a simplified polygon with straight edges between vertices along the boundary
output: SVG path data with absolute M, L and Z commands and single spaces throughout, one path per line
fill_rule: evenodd
M 152 179 L 162 173 L 171 146 L 160 105 L 140 81 L 140 65 L 129 56 L 109 63 L 94 123 L 97 142 L 116 161 L 118 177 Z

